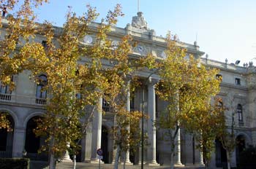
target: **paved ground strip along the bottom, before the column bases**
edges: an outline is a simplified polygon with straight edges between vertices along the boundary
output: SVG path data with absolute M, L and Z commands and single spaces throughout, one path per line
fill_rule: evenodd
M 73 168 L 73 163 L 72 162 L 61 162 L 57 164 L 57 169 L 72 169 Z M 76 169 L 98 169 L 99 165 L 98 164 L 91 164 L 87 162 L 77 162 Z M 118 165 L 118 168 L 123 169 L 123 165 Z M 140 165 L 127 165 L 126 169 L 140 169 Z M 170 166 L 164 165 L 164 166 L 144 166 L 144 169 L 167 169 L 170 168 Z M 189 168 L 189 167 L 184 167 L 184 168 Z M 47 164 L 39 164 L 39 162 L 31 162 L 31 169 L 48 169 Z M 113 169 L 112 164 L 102 164 L 100 169 Z M 189 169 L 203 169 L 202 167 L 190 167 Z

